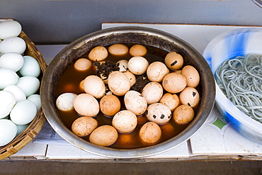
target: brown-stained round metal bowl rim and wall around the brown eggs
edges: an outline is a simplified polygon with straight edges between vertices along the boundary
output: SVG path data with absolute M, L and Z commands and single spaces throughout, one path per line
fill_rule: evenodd
M 159 47 L 167 52 L 176 51 L 183 56 L 184 64 L 190 64 L 195 67 L 195 69 L 198 69 L 200 74 L 200 106 L 195 113 L 195 118 L 192 123 L 190 123 L 183 132 L 176 135 L 176 137 L 172 137 L 165 142 L 149 147 L 138 149 L 113 149 L 93 145 L 91 142 L 81 139 L 74 135 L 74 133 L 62 123 L 55 106 L 55 88 L 59 77 L 61 77 L 64 70 L 67 69 L 71 62 L 81 55 L 84 55 L 84 53 L 89 52 L 93 47 L 98 45 L 112 45 L 115 43 L 137 43 Z M 94 33 L 84 35 L 59 52 L 54 60 L 52 60 L 49 67 L 47 67 L 45 76 L 42 79 L 40 96 L 42 100 L 42 109 L 47 121 L 64 140 L 67 140 L 72 145 L 86 152 L 103 157 L 138 158 L 159 154 L 169 149 L 173 149 L 183 142 L 186 142 L 203 126 L 215 103 L 215 80 L 203 56 L 180 38 L 152 28 L 119 27 L 98 30 Z

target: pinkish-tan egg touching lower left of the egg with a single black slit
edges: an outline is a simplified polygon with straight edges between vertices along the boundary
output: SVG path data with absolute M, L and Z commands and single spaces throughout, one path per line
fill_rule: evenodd
M 169 74 L 169 69 L 163 62 L 152 62 L 147 67 L 147 77 L 150 81 L 160 82 L 166 74 Z

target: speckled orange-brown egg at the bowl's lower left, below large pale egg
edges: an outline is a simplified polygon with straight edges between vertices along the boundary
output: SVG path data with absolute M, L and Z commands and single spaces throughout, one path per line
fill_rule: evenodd
M 74 134 L 84 137 L 89 135 L 97 126 L 98 122 L 96 119 L 91 117 L 80 117 L 74 120 L 71 128 Z

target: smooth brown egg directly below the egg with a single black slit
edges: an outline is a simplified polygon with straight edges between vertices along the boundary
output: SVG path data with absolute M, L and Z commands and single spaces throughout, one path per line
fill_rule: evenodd
M 162 81 L 163 88 L 170 93 L 178 93 L 186 88 L 186 77 L 172 72 L 167 74 Z

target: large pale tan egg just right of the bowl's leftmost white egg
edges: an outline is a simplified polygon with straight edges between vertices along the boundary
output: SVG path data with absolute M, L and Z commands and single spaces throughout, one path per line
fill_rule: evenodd
M 79 115 L 93 117 L 99 113 L 99 103 L 90 94 L 79 94 L 74 98 L 74 110 Z

